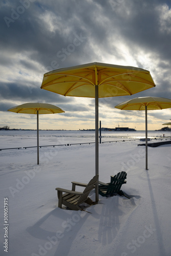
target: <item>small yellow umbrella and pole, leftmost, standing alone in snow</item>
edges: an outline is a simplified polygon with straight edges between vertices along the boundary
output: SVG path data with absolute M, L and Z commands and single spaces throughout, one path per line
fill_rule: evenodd
M 14 106 L 8 111 L 15 113 L 37 114 L 37 164 L 39 164 L 38 114 L 55 114 L 63 113 L 65 111 L 55 105 L 48 103 L 25 103 L 22 105 Z

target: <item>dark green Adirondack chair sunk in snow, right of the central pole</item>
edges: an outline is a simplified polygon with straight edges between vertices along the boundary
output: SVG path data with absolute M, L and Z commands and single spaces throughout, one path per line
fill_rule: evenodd
M 126 181 L 126 172 L 121 172 L 116 174 L 115 176 L 111 176 L 110 183 L 103 183 L 99 181 L 99 194 L 102 197 L 110 197 L 114 196 L 114 194 L 119 194 L 120 196 L 125 196 L 129 198 L 127 195 L 120 190 L 122 184 L 125 184 Z

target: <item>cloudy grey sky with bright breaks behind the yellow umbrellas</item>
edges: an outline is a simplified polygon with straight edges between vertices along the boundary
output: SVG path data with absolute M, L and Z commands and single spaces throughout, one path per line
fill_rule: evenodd
M 146 69 L 156 84 L 132 96 L 99 99 L 102 127 L 145 130 L 144 111 L 114 106 L 135 97 L 171 98 L 170 0 L 2 0 L 0 6 L 0 127 L 36 129 L 36 115 L 7 110 L 46 102 L 66 113 L 41 115 L 40 129 L 94 129 L 94 99 L 40 89 L 45 73 L 84 63 Z M 148 111 L 148 130 L 170 118 L 171 109 Z

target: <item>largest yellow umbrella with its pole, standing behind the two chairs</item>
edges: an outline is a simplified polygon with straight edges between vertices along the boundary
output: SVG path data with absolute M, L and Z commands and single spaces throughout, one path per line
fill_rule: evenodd
M 98 174 L 98 98 L 132 95 L 155 87 L 147 70 L 88 63 L 44 74 L 41 89 L 65 96 L 95 98 L 95 165 Z M 98 183 L 96 185 L 98 202 Z

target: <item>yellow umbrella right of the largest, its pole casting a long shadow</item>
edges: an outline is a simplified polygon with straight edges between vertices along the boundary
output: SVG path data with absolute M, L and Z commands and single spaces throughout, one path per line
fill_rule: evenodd
M 120 110 L 145 110 L 145 169 L 147 170 L 147 109 L 162 110 L 171 108 L 171 99 L 161 97 L 139 97 L 124 101 L 115 106 Z

